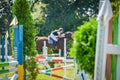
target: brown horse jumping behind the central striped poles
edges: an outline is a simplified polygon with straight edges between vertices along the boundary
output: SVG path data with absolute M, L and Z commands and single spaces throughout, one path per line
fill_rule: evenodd
M 64 50 L 64 38 L 66 38 L 66 40 L 70 40 L 72 39 L 72 32 L 66 32 L 65 33 L 65 37 L 63 38 L 59 38 L 57 44 L 56 44 L 56 50 L 61 49 Z M 40 36 L 40 37 L 36 37 L 36 48 L 37 50 L 41 50 L 43 45 L 44 45 L 44 41 L 46 41 L 46 46 L 48 48 L 52 48 L 53 49 L 53 44 L 49 44 L 48 43 L 48 37 L 45 36 Z

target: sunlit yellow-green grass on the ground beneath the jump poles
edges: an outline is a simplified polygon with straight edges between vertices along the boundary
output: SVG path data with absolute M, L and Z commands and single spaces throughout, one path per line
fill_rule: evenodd
M 55 64 L 55 66 L 57 67 L 59 64 Z M 63 64 L 61 64 L 63 65 Z M 67 64 L 69 65 L 69 64 Z M 42 69 L 42 65 L 38 65 L 38 67 L 40 69 Z M 8 73 L 8 76 L 11 77 L 14 73 Z M 64 76 L 64 70 L 57 70 L 57 71 L 53 71 L 52 74 L 56 74 L 56 75 L 59 75 L 59 76 Z M 70 68 L 67 68 L 67 71 L 66 71 L 66 76 L 68 78 L 73 78 L 74 77 L 74 68 L 73 67 L 70 67 Z M 0 77 L 4 78 L 5 77 L 5 74 L 0 74 Z M 79 80 L 79 75 L 77 74 L 77 79 Z M 4 79 L 0 79 L 0 80 L 4 80 Z M 45 74 L 38 74 L 36 80 L 62 80 L 62 79 L 59 79 L 59 78 L 55 78 L 55 77 L 52 77 L 52 76 L 48 76 L 48 75 L 45 75 Z

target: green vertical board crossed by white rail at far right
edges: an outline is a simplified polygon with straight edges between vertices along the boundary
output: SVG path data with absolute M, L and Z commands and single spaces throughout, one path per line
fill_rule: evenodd
M 118 19 L 114 19 L 113 44 L 118 44 Z M 116 80 L 117 55 L 112 55 L 112 80 Z

